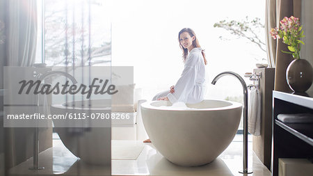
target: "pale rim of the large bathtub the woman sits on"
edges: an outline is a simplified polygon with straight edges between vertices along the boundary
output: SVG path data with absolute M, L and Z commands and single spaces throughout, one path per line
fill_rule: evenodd
M 230 105 L 217 107 L 217 108 L 205 108 L 205 109 L 164 109 L 163 106 L 153 106 L 152 103 L 166 101 L 166 100 L 155 100 L 155 101 L 150 101 L 150 102 L 144 102 L 143 104 L 141 104 L 141 107 L 144 109 L 160 110 L 160 111 L 221 111 L 221 110 L 227 110 L 227 109 L 243 108 L 243 104 L 239 102 L 232 102 L 232 101 L 223 100 L 223 99 L 203 99 L 202 102 L 208 101 L 208 100 L 217 101 L 217 102 L 227 102 L 227 103 L 230 103 Z

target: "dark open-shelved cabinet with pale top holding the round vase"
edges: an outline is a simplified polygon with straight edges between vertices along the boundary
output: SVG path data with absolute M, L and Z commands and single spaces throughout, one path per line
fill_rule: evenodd
M 279 158 L 313 159 L 313 123 L 284 123 L 282 113 L 313 113 L 313 96 L 273 91 L 272 175 Z

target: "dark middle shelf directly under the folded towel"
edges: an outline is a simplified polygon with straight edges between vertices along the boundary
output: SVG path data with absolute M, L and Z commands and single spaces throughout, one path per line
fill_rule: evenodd
M 275 120 L 275 124 L 294 134 L 301 140 L 313 146 L 313 124 L 296 124 L 296 123 L 284 123 L 280 120 Z

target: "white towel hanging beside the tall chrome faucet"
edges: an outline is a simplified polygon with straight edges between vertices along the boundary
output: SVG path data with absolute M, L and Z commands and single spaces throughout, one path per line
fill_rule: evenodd
M 248 131 L 255 136 L 261 135 L 262 96 L 257 88 L 251 88 L 248 108 Z

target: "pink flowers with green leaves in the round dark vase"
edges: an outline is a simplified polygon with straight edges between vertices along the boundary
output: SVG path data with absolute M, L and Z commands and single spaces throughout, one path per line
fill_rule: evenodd
M 300 44 L 305 45 L 300 38 L 304 38 L 300 20 L 297 17 L 284 17 L 280 21 L 280 29 L 277 27 L 271 29 L 271 36 L 273 39 L 282 38 L 282 42 L 288 45 L 289 51 L 282 51 L 283 53 L 292 54 L 295 59 L 300 58 Z

